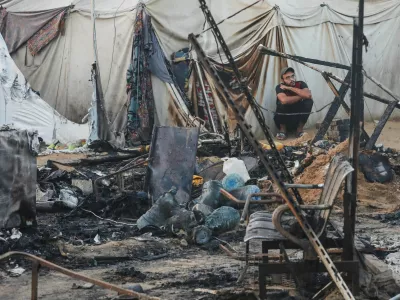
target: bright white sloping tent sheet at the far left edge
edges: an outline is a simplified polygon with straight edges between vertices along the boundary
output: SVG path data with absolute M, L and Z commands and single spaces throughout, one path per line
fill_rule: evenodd
M 87 124 L 68 121 L 32 91 L 17 68 L 0 35 L 0 125 L 37 130 L 46 142 L 58 139 L 62 143 L 86 139 Z

